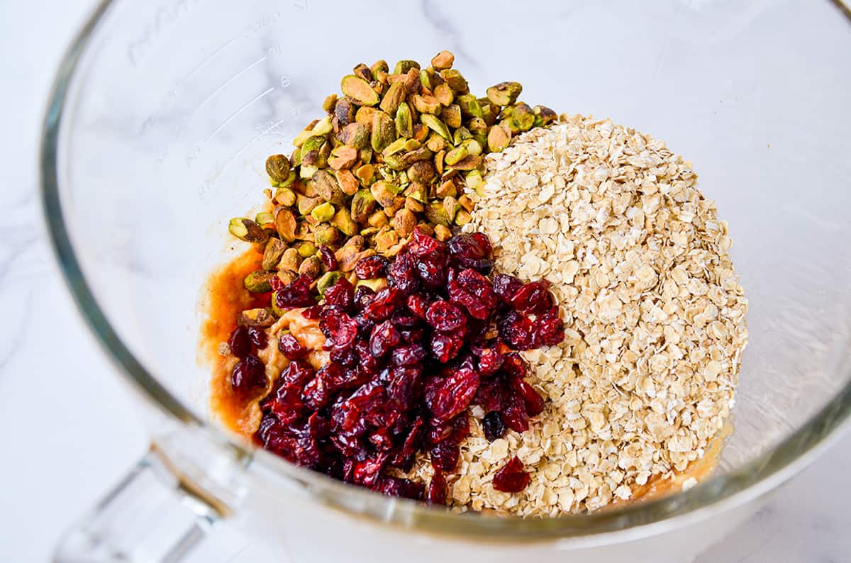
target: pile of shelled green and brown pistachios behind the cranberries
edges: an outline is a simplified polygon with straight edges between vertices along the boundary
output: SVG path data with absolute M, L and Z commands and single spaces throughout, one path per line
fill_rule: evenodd
M 269 156 L 272 213 L 231 219 L 229 227 L 265 245 L 263 270 L 245 280 L 249 291 L 269 291 L 272 276 L 317 278 L 319 247 L 332 249 L 346 273 L 365 256 L 395 256 L 417 225 L 443 241 L 470 222 L 464 188 L 481 190 L 483 155 L 557 116 L 518 102 L 518 82 L 477 98 L 453 62 L 441 51 L 425 69 L 414 60 L 392 72 L 385 60 L 355 66 L 342 95 L 324 101 L 328 115 L 295 137 L 292 155 Z

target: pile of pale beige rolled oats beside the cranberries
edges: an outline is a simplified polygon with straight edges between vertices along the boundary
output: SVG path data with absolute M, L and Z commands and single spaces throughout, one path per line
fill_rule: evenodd
M 473 409 L 448 498 L 523 516 L 633 498 L 700 458 L 733 406 L 747 300 L 727 225 L 688 162 L 609 120 L 563 116 L 486 160 L 465 229 L 490 236 L 497 271 L 553 283 L 567 338 L 524 353 L 548 400 L 528 432 L 488 443 Z M 513 455 L 532 481 L 495 491 Z

